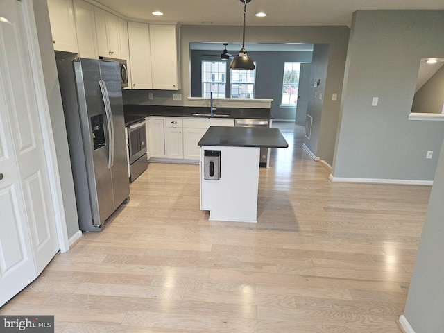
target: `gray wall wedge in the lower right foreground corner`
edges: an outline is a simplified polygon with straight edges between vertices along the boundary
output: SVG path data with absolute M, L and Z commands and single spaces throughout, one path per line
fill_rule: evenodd
M 404 316 L 417 333 L 444 330 L 444 144 L 436 168 Z

